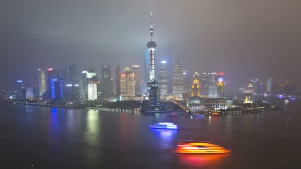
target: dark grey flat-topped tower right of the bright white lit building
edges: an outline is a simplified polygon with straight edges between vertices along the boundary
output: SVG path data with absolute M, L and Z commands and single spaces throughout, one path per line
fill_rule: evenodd
M 103 98 L 109 98 L 113 94 L 112 76 L 110 65 L 101 66 L 101 95 Z

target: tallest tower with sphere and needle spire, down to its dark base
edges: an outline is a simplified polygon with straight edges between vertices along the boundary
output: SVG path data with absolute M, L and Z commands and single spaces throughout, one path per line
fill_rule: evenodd
M 149 81 L 148 81 L 148 94 L 150 99 L 150 109 L 155 110 L 160 105 L 160 89 L 158 88 L 157 81 L 154 80 L 154 50 L 157 47 L 157 44 L 153 41 L 153 28 L 152 28 L 152 11 L 151 11 L 151 41 L 148 42 L 147 47 L 149 50 Z

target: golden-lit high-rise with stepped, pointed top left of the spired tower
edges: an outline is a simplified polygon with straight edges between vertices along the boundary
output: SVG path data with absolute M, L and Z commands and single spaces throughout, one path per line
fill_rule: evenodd
M 129 67 L 120 75 L 120 93 L 124 98 L 135 96 L 135 74 Z

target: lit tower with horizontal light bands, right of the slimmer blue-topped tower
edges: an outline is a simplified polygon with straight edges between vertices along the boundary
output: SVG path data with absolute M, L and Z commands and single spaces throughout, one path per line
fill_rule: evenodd
M 173 84 L 173 95 L 176 99 L 179 99 L 181 97 L 181 92 L 184 90 L 182 61 L 175 62 L 172 84 Z

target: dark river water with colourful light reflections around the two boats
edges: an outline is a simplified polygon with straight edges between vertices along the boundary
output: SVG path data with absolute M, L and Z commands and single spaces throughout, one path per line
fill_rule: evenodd
M 261 97 L 283 107 L 223 117 L 108 113 L 0 102 L 0 168 L 295 169 L 301 166 L 301 100 Z M 288 120 L 289 119 L 289 120 Z M 172 122 L 179 130 L 150 129 Z M 178 139 L 213 141 L 225 155 L 184 155 Z

